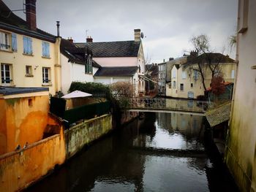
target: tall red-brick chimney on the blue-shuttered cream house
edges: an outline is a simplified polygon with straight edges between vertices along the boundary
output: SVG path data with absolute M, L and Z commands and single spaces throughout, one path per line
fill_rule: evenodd
M 26 0 L 26 23 L 33 31 L 37 30 L 36 2 L 37 0 Z

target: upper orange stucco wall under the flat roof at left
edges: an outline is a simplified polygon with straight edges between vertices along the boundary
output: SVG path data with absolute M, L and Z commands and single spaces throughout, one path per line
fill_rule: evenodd
M 29 105 L 29 99 L 31 101 Z M 48 123 L 48 96 L 31 96 L 18 99 L 0 99 L 0 154 L 15 150 L 26 142 L 42 139 Z M 4 144 L 5 143 L 5 144 Z

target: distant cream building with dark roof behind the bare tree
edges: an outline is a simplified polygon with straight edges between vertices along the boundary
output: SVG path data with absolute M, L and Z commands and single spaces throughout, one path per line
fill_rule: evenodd
M 202 77 L 198 72 L 198 65 L 203 66 L 206 88 L 203 86 Z M 204 95 L 204 91 L 211 85 L 212 73 L 206 64 L 217 66 L 214 75 L 222 74 L 225 82 L 234 82 L 236 63 L 228 56 L 221 53 L 203 53 L 198 55 L 191 52 L 171 61 L 170 82 L 166 85 L 167 96 L 174 98 L 196 99 Z

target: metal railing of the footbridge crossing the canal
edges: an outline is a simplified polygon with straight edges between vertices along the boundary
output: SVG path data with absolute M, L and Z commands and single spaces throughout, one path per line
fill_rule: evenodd
M 186 112 L 206 112 L 212 103 L 208 101 L 195 101 L 184 99 L 165 99 L 165 98 L 131 98 L 127 109 L 143 110 L 176 110 Z

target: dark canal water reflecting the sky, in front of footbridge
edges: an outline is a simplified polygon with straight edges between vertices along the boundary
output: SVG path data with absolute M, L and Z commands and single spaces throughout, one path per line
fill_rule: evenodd
M 203 122 L 196 115 L 146 113 L 27 191 L 237 191 L 206 145 Z

